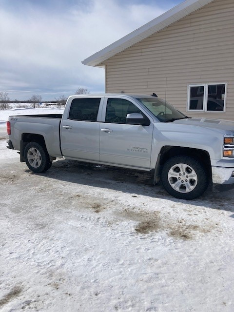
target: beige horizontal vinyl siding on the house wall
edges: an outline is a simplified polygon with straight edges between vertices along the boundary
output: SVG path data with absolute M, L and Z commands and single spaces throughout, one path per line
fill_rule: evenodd
M 234 0 L 215 0 L 103 64 L 108 93 L 155 92 L 184 113 L 188 84 L 227 82 L 226 113 L 187 114 L 234 120 Z

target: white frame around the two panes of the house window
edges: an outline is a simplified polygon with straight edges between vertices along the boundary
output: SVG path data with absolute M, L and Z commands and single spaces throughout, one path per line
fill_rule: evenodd
M 207 104 L 208 104 L 208 90 L 209 85 L 225 85 L 225 95 L 224 95 L 224 105 L 223 111 L 208 111 Z M 189 109 L 190 106 L 190 94 L 191 94 L 191 87 L 204 87 L 204 98 L 203 98 L 203 109 Z M 188 84 L 188 95 L 187 95 L 187 112 L 204 112 L 204 113 L 226 113 L 226 102 L 227 102 L 227 90 L 228 90 L 228 83 L 227 82 L 209 82 L 209 83 L 197 83 L 197 84 Z

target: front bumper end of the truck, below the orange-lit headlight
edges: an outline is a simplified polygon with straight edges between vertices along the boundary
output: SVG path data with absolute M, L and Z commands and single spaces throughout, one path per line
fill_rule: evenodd
M 212 180 L 215 184 L 234 184 L 234 168 L 212 166 Z

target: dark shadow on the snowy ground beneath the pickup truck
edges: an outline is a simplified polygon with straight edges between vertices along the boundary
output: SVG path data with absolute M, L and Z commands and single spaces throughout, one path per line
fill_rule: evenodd
M 60 181 L 107 188 L 133 195 L 162 198 L 176 203 L 187 203 L 234 213 L 233 192 L 213 193 L 212 185 L 210 185 L 204 195 L 195 200 L 176 199 L 164 190 L 161 183 L 154 185 L 153 176 L 149 172 L 82 163 L 75 160 L 58 160 L 52 164 L 50 170 L 39 175 Z

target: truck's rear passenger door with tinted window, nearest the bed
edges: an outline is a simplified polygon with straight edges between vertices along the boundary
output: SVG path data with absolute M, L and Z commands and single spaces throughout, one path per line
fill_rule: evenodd
M 66 158 L 99 161 L 98 118 L 103 98 L 72 99 L 61 121 L 61 150 Z

